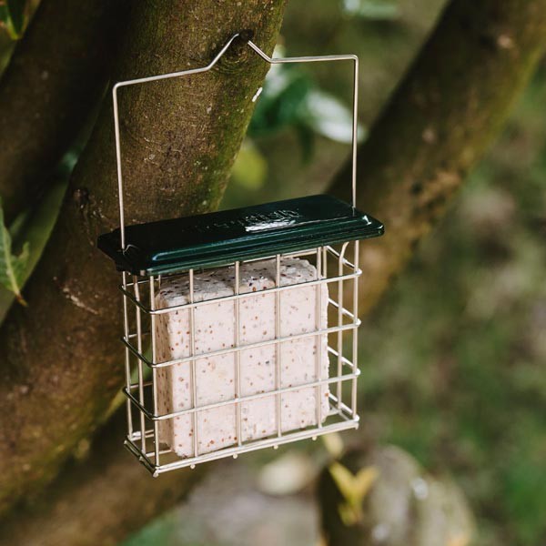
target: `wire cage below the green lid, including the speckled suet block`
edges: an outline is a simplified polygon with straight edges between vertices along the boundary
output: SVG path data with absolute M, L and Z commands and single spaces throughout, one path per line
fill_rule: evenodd
M 356 248 L 124 274 L 129 450 L 158 474 L 357 427 Z

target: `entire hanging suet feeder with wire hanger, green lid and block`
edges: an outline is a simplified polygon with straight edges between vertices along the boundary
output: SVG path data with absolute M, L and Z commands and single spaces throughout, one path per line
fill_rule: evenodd
M 359 239 L 383 233 L 356 208 L 358 58 L 354 64 L 352 203 L 300 197 L 125 226 L 114 86 L 120 228 L 98 247 L 122 272 L 127 435 L 150 472 L 238 457 L 357 428 Z

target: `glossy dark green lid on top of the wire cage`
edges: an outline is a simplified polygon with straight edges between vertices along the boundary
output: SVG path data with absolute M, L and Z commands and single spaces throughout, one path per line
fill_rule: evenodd
M 98 238 L 119 270 L 159 275 L 379 237 L 383 225 L 327 195 L 299 197 L 126 227 Z

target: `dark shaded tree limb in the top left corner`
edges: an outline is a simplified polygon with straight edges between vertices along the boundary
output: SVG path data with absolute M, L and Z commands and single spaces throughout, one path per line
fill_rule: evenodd
M 0 80 L 0 196 L 33 205 L 106 88 L 120 0 L 44 0 Z

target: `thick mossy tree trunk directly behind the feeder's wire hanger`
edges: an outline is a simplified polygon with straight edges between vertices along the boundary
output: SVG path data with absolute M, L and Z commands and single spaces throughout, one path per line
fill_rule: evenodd
M 284 0 L 133 5 L 116 79 L 205 66 L 242 29 L 269 53 Z M 206 76 L 120 94 L 126 220 L 217 207 L 268 66 L 234 46 Z M 184 127 L 184 130 L 180 130 Z M 110 100 L 80 158 L 45 255 L 0 331 L 0 510 L 51 480 L 122 383 L 119 278 L 96 249 L 118 225 Z

